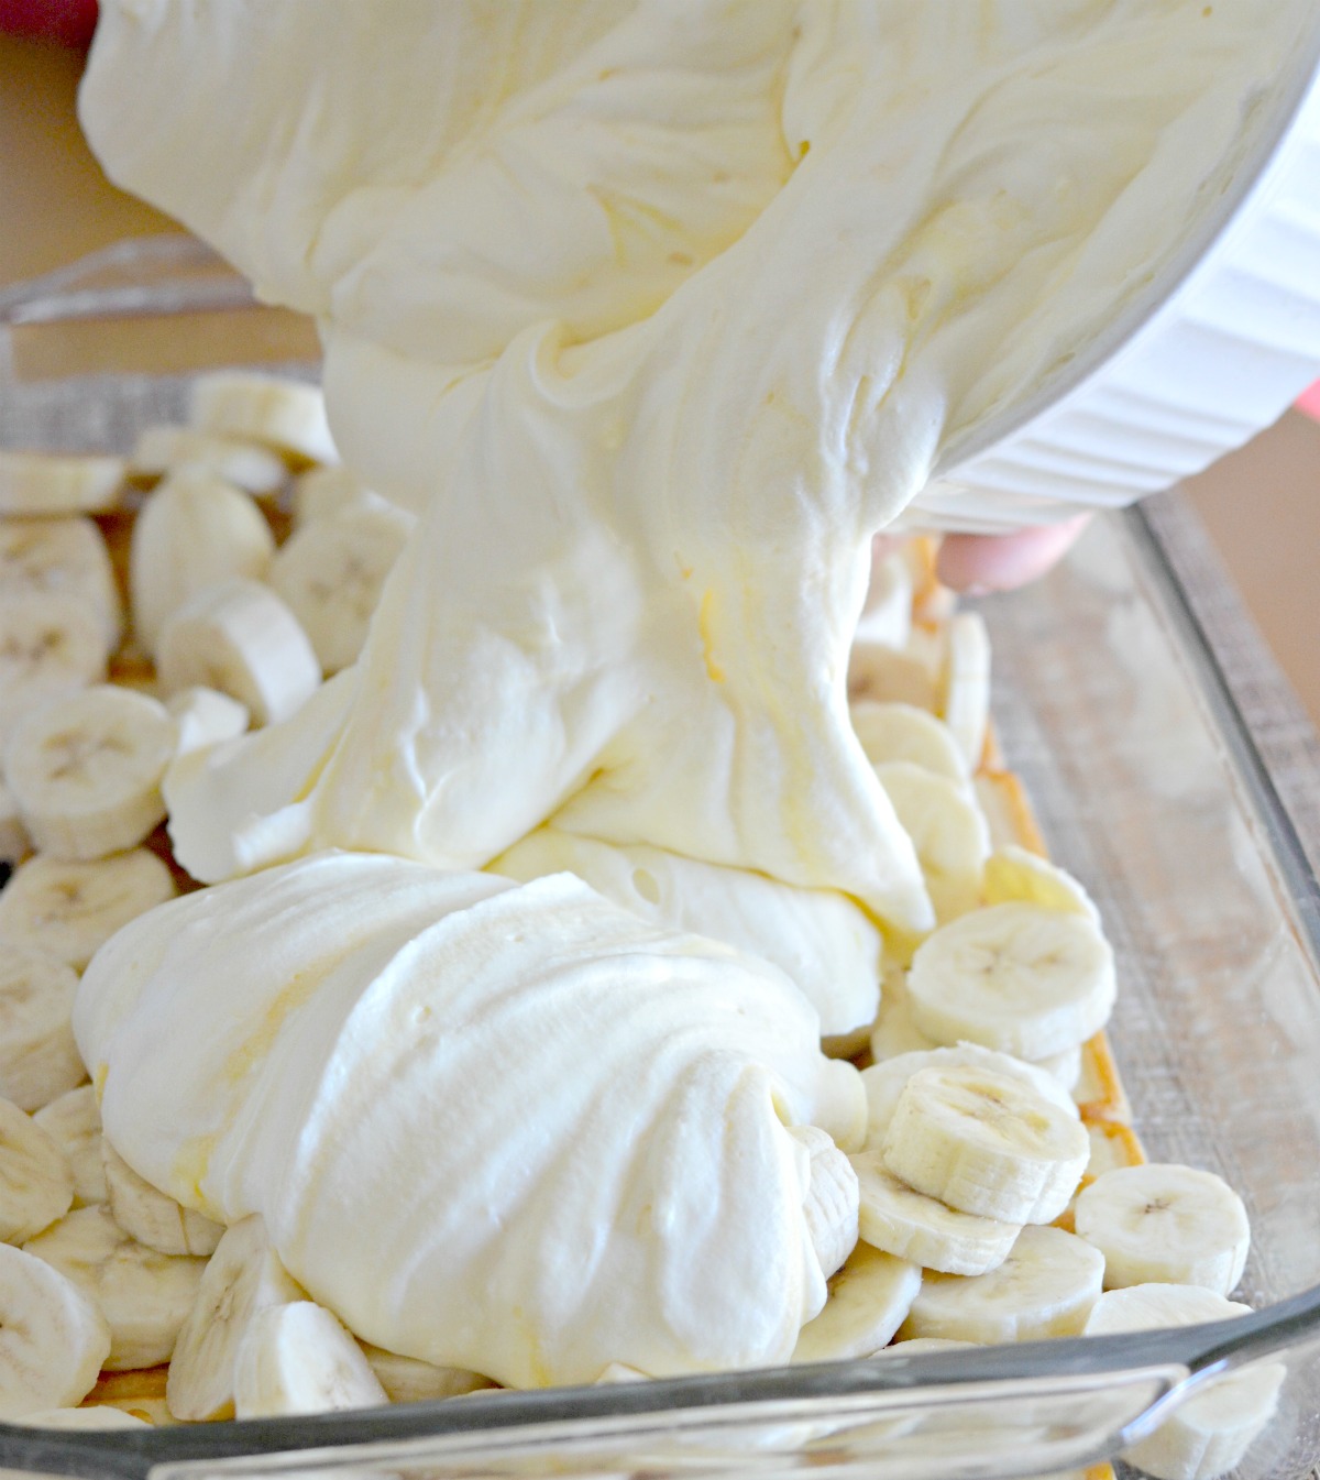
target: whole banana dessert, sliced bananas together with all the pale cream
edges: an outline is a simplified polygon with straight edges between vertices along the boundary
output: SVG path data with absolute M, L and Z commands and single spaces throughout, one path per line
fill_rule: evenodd
M 1231 1304 L 1246 1214 L 1144 1165 L 983 623 L 922 543 L 858 620 L 873 534 L 1213 195 L 1277 9 L 386 13 L 104 6 L 93 147 L 318 318 L 326 400 L 220 374 L 121 462 L 0 457 L 44 1313 L 0 1413 Z

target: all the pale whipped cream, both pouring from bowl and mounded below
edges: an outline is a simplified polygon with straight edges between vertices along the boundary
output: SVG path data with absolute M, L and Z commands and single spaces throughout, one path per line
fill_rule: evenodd
M 1290 16 L 107 0 L 96 152 L 317 317 L 419 515 L 360 662 L 167 793 L 237 882 L 84 981 L 121 1154 L 397 1351 L 786 1356 L 783 1122 L 832 1125 L 876 925 L 934 924 L 848 721 L 870 539 L 1148 286 Z

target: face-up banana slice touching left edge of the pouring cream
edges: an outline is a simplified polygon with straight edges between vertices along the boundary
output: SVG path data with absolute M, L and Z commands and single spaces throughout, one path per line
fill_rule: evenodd
M 357 662 L 411 525 L 383 502 L 358 503 L 297 530 L 271 562 L 271 588 L 302 623 L 327 675 Z

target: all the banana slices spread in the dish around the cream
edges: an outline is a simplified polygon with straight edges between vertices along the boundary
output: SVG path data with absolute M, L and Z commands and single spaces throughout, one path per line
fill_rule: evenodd
M 411 518 L 336 465 L 314 388 L 203 377 L 127 459 L 0 451 L 0 1419 L 118 1427 L 454 1397 L 493 1384 L 360 1342 L 259 1217 L 183 1209 L 102 1140 L 70 1027 L 121 925 L 194 888 L 173 767 L 352 663 Z M 1249 1227 L 1210 1172 L 1150 1165 L 1104 1026 L 1114 961 L 989 734 L 990 647 L 922 542 L 878 570 L 852 722 L 938 921 L 886 938 L 866 1144 L 799 1128 L 829 1301 L 795 1362 L 1242 1314 Z M 124 620 L 127 602 L 127 622 Z M 833 1251 L 830 1257 L 830 1251 Z M 922 1350 L 922 1348 L 907 1348 Z M 642 1373 L 617 1365 L 599 1381 Z M 1239 1462 L 1283 1369 L 1202 1388 L 1128 1456 Z

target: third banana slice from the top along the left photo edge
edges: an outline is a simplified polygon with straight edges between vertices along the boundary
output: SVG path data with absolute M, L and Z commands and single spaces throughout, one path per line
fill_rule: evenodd
M 0 744 L 21 715 L 105 678 L 108 660 L 105 619 L 83 596 L 0 592 Z

